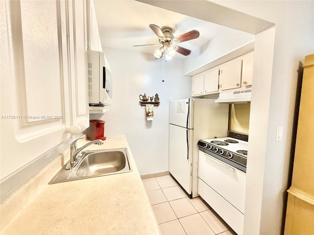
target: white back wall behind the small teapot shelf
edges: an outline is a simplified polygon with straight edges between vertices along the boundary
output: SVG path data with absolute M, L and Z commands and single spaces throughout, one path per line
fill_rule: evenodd
M 126 135 L 140 174 L 168 169 L 169 100 L 191 96 L 191 77 L 183 76 L 183 59 L 164 62 L 153 55 L 103 47 L 112 80 L 112 106 L 103 115 L 105 136 Z M 164 82 L 162 82 L 164 80 Z M 154 120 L 146 121 L 139 94 L 159 95 Z

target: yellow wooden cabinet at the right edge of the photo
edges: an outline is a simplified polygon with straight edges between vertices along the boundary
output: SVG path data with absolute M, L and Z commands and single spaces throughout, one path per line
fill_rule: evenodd
M 285 235 L 314 234 L 314 54 L 305 57 Z

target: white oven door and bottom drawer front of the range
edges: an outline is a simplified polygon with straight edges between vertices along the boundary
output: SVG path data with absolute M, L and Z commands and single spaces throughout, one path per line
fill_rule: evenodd
M 246 174 L 199 151 L 198 194 L 237 233 L 243 233 Z

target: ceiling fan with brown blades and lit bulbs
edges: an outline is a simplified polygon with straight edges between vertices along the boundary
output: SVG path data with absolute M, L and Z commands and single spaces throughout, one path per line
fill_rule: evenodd
M 157 35 L 159 44 L 136 45 L 133 47 L 160 46 L 154 52 L 154 56 L 156 57 L 156 59 L 161 58 L 164 53 L 166 53 L 166 55 L 169 55 L 169 56 L 174 56 L 176 51 L 185 56 L 189 55 L 191 53 L 191 50 L 186 49 L 184 47 L 180 47 L 175 44 L 189 41 L 189 40 L 198 38 L 200 36 L 199 31 L 195 29 L 187 33 L 184 33 L 180 36 L 174 37 L 172 34 L 173 30 L 170 27 L 165 26 L 165 27 L 160 28 L 156 24 L 150 24 L 149 27 Z

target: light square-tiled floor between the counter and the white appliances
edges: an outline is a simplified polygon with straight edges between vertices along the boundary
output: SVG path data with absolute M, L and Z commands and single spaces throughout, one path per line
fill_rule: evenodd
M 200 197 L 190 199 L 170 175 L 143 184 L 163 235 L 236 235 Z

